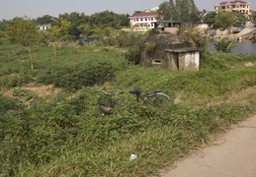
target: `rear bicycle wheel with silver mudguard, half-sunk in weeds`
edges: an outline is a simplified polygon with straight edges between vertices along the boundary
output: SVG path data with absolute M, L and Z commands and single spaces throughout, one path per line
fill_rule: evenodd
M 172 106 L 172 99 L 167 94 L 158 92 L 147 95 L 143 99 L 142 104 L 150 105 L 160 110 L 167 110 Z

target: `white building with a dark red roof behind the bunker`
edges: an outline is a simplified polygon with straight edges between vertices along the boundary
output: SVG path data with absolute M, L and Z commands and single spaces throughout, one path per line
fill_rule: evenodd
M 154 24 L 157 22 L 157 12 L 142 12 L 129 17 L 130 28 L 132 29 L 154 29 Z

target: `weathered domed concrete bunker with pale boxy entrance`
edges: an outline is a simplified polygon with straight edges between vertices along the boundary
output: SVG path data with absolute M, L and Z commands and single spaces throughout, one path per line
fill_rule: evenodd
M 180 34 L 180 22 L 158 22 L 140 44 L 140 66 L 169 70 L 198 71 L 200 49 L 190 47 Z

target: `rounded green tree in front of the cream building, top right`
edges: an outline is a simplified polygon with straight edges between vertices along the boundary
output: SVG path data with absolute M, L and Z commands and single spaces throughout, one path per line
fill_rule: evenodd
M 219 11 L 215 16 L 215 25 L 222 29 L 229 29 L 229 27 L 236 21 L 232 12 Z

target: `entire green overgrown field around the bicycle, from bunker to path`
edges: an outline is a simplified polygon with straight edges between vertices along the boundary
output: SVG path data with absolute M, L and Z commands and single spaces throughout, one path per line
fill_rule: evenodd
M 199 72 L 145 69 L 115 48 L 0 46 L 1 176 L 147 176 L 255 112 L 256 55 L 212 54 Z M 47 87 L 45 87 L 45 85 Z M 125 91 L 102 116 L 100 89 Z M 170 110 L 128 90 L 161 89 Z M 138 157 L 130 160 L 130 154 Z

